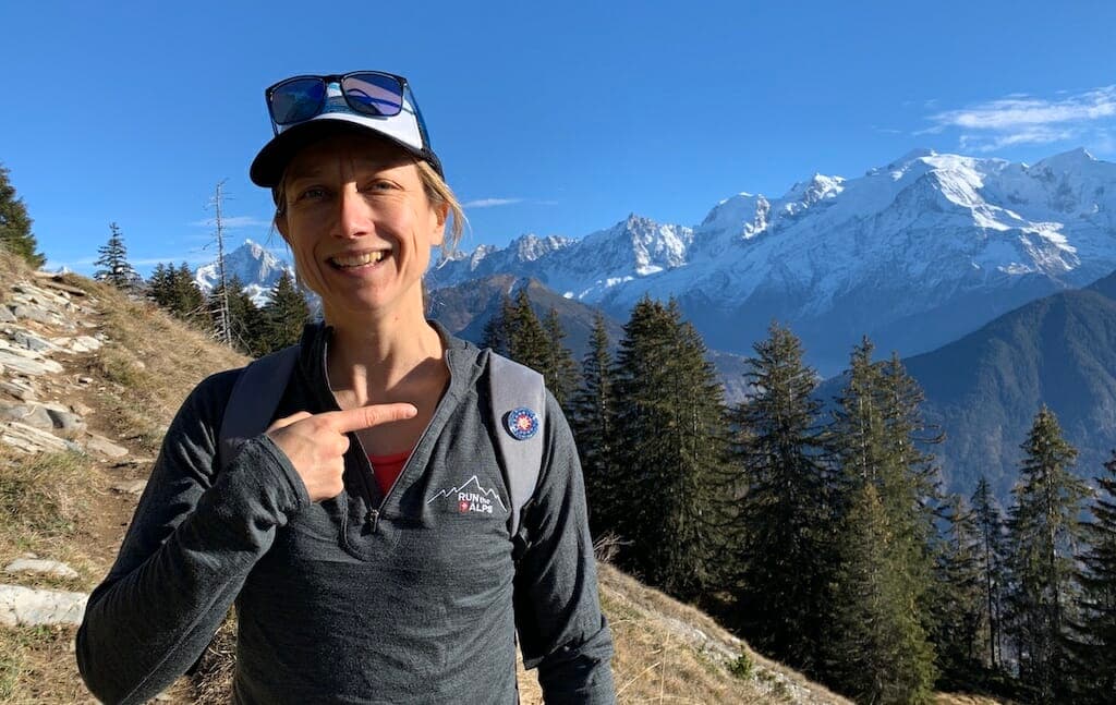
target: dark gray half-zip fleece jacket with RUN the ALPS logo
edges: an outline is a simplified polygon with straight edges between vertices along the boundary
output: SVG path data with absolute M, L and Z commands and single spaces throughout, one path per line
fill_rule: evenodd
M 386 496 L 355 437 L 344 492 L 319 503 L 267 436 L 218 472 L 240 370 L 191 393 L 78 630 L 78 666 L 97 697 L 156 695 L 235 601 L 237 703 L 514 703 L 517 630 L 547 703 L 615 701 L 566 419 L 548 394 L 542 472 L 525 514 L 531 545 L 517 569 L 489 352 L 440 332 L 450 385 Z M 307 328 L 276 417 L 337 408 L 328 339 L 328 328 Z

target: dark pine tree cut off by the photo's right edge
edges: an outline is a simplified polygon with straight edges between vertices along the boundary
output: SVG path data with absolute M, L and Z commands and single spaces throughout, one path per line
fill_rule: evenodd
M 1085 528 L 1088 549 L 1079 557 L 1081 614 L 1075 625 L 1076 697 L 1096 705 L 1116 696 L 1116 451 L 1105 471 L 1107 476 L 1097 477 L 1093 521 Z

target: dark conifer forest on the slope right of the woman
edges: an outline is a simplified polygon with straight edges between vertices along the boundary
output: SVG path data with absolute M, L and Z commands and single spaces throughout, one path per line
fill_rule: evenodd
M 984 481 L 949 495 L 918 385 L 868 339 L 819 399 L 772 323 L 729 407 L 674 302 L 641 300 L 615 344 L 598 317 L 579 375 L 546 320 L 506 298 L 484 342 L 561 395 L 590 528 L 623 569 L 857 702 L 1114 702 L 1116 451 L 1091 489 L 1042 407 L 1010 506 Z

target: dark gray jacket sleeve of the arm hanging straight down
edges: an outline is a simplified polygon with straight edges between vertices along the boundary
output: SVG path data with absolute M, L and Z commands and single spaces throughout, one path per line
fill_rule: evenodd
M 547 394 L 546 450 L 529 545 L 516 570 L 516 626 L 523 664 L 538 667 L 548 705 L 615 703 L 608 622 L 600 612 L 585 485 L 566 417 Z

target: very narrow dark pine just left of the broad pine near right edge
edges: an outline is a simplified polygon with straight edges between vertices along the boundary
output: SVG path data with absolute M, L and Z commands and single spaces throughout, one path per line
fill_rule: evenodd
M 981 475 L 973 492 L 973 520 L 978 539 L 977 561 L 980 568 L 983 593 L 983 624 L 988 636 L 982 640 L 983 663 L 991 669 L 1000 668 L 1000 643 L 1003 634 L 1003 587 L 1007 582 L 1004 568 L 1003 515 L 995 504 L 988 480 Z

